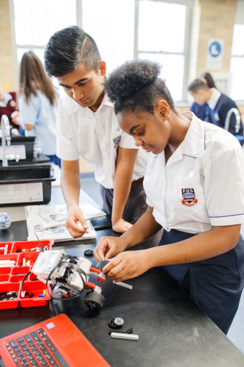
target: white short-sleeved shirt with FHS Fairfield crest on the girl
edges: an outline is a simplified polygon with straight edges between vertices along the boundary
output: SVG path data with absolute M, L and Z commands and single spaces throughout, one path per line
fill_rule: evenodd
M 147 204 L 164 229 L 201 233 L 244 222 L 244 152 L 228 131 L 192 112 L 184 141 L 165 166 L 164 151 L 149 161 Z

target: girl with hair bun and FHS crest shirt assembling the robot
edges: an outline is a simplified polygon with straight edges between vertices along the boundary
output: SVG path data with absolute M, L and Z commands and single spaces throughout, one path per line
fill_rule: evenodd
M 103 272 L 116 281 L 164 266 L 227 333 L 244 286 L 244 152 L 227 131 L 178 113 L 159 75 L 157 63 L 134 60 L 106 81 L 119 126 L 149 153 L 148 209 L 121 237 L 102 237 L 94 256 L 110 259 Z M 161 226 L 163 246 L 123 252 Z

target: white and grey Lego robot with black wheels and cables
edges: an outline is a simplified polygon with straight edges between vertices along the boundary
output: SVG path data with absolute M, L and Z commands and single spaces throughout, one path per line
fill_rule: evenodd
M 107 263 L 99 261 L 94 267 L 86 258 L 69 256 L 64 250 L 52 250 L 40 252 L 31 272 L 47 284 L 47 289 L 52 284 L 53 299 L 75 298 L 87 289 L 84 303 L 88 308 L 96 310 L 102 308 L 104 297 L 101 295 L 101 287 L 88 280 L 89 276 L 93 276 L 103 283 L 106 275 L 101 270 Z

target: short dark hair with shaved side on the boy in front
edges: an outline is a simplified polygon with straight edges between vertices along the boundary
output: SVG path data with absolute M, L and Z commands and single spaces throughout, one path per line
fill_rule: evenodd
M 54 33 L 44 52 L 44 68 L 49 77 L 61 77 L 74 72 L 81 62 L 88 71 L 98 72 L 100 60 L 96 42 L 75 25 Z

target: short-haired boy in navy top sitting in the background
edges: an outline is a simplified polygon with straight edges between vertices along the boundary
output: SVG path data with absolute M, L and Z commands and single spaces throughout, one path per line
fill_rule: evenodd
M 194 102 L 199 105 L 207 103 L 209 121 L 219 127 L 225 127 L 225 119 L 228 111 L 231 108 L 237 109 L 236 103 L 231 98 L 219 92 L 216 88 L 210 89 L 207 84 L 200 79 L 193 80 L 188 87 L 188 91 L 193 96 Z M 232 113 L 228 131 L 233 135 L 243 135 L 243 124 L 241 121 L 240 123 L 240 130 L 236 131 L 236 116 Z

